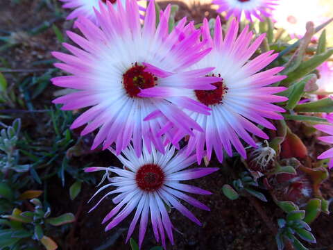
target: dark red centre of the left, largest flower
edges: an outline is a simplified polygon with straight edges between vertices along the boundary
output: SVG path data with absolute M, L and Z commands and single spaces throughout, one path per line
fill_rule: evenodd
M 133 67 L 123 74 L 123 87 L 129 97 L 138 97 L 137 94 L 139 94 L 140 90 L 155 86 L 157 78 L 149 72 L 144 72 L 144 69 L 146 67 L 135 63 Z

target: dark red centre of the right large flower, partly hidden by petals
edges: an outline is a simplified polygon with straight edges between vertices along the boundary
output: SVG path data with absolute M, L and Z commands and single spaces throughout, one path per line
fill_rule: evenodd
M 195 90 L 198 101 L 206 106 L 222 103 L 224 94 L 228 92 L 228 88 L 225 87 L 223 81 L 212 83 L 212 85 L 216 87 L 215 90 Z

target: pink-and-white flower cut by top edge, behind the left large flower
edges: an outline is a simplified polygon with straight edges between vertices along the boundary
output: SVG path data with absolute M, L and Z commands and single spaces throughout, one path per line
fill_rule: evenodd
M 121 1 L 121 3 L 125 3 L 126 0 L 59 0 L 64 2 L 65 4 L 62 8 L 75 8 L 67 17 L 67 20 L 76 19 L 78 17 L 87 17 L 90 19 L 94 24 L 98 24 L 97 18 L 94 12 L 94 8 L 96 10 L 99 9 L 100 4 L 106 4 L 106 1 L 109 1 L 115 8 L 117 8 L 117 1 Z M 140 1 L 140 0 L 134 0 Z M 144 11 L 143 7 L 139 7 L 140 10 Z

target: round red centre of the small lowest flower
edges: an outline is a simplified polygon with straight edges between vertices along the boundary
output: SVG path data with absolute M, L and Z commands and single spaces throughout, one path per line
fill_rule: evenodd
M 146 164 L 139 168 L 135 181 L 144 191 L 154 192 L 161 188 L 164 183 L 164 173 L 160 166 L 155 164 Z

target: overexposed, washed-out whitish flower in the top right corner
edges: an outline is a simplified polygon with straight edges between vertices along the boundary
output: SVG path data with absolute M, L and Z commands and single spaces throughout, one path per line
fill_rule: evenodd
M 284 28 L 291 38 L 302 38 L 307 22 L 314 22 L 315 26 L 322 24 L 327 20 L 323 16 L 326 11 L 318 1 L 280 0 L 272 16 L 276 22 L 275 26 Z

